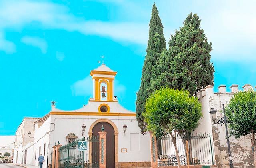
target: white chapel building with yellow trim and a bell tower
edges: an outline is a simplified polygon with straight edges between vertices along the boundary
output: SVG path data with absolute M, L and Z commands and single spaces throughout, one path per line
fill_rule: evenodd
M 60 110 L 52 102 L 51 111 L 43 118 L 24 118 L 16 132 L 13 162 L 38 166 L 42 154 L 46 160 L 43 167 L 47 168 L 56 143 L 65 145 L 82 137 L 98 136 L 104 126 L 107 167 L 150 167 L 150 135 L 140 134 L 136 113 L 118 103 L 114 94 L 116 74 L 105 64 L 92 70 L 93 97 L 80 109 Z M 85 161 L 91 159 L 92 150 L 89 146 Z

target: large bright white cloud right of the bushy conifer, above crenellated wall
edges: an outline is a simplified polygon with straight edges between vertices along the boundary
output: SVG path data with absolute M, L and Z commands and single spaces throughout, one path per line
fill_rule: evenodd
M 213 53 L 221 54 L 218 59 L 255 60 L 251 52 L 255 51 L 256 45 L 256 1 L 225 2 L 224 7 L 216 8 L 214 14 L 201 15 L 202 27 L 212 41 Z

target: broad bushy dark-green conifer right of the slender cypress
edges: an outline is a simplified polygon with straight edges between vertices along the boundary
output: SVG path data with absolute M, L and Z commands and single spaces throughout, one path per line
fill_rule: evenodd
M 186 89 L 191 95 L 212 85 L 214 79 L 214 67 L 210 62 L 212 43 L 208 43 L 200 23 L 197 14 L 190 13 L 169 42 L 172 88 Z

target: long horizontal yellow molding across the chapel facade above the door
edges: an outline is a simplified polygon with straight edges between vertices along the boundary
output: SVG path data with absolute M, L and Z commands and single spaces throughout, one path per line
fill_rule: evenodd
M 70 116 L 134 116 L 136 113 L 117 113 L 117 112 L 50 112 L 50 115 L 70 115 Z

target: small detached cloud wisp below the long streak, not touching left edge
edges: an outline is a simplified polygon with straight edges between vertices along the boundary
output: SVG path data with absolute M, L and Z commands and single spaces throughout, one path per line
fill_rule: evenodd
M 46 52 L 47 52 L 47 42 L 42 38 L 24 36 L 21 39 L 21 41 L 27 45 L 40 48 L 40 50 L 43 54 L 46 54 Z

